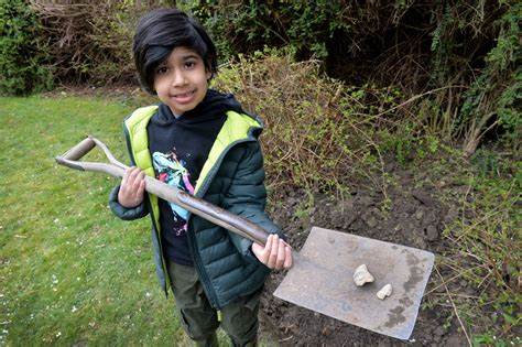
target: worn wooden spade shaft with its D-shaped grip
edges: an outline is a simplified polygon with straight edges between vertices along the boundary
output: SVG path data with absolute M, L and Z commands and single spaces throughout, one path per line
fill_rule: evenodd
M 110 164 L 79 161 L 97 145 L 105 152 Z M 63 155 L 56 156 L 56 162 L 70 169 L 104 172 L 115 177 L 122 177 L 129 167 L 117 161 L 104 142 L 90 135 Z M 145 191 L 254 242 L 263 246 L 267 243 L 269 232 L 257 224 L 170 186 L 154 177 L 145 176 Z

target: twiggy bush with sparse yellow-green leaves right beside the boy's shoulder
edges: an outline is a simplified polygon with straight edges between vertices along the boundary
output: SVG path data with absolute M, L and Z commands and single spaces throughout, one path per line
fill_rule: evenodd
M 374 141 L 390 127 L 394 115 L 379 113 L 396 105 L 396 90 L 349 87 L 325 77 L 317 61 L 297 63 L 281 51 L 240 56 L 216 83 L 267 123 L 262 143 L 272 196 L 295 187 L 342 194 L 350 180 L 371 182 L 385 195 Z

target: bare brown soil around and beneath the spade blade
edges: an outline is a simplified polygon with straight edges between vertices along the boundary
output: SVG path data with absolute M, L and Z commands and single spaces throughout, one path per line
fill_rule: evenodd
M 308 200 L 305 192 L 284 194 L 274 205 L 271 215 L 283 227 L 290 243 L 300 249 L 312 226 L 336 229 L 383 241 L 444 253 L 449 247 L 441 237 L 444 226 L 456 216 L 456 209 L 436 199 L 434 186 L 415 187 L 413 175 L 407 171 L 394 170 L 396 185 L 387 194 L 392 206 L 383 213 L 383 195 L 376 189 L 361 187 L 344 200 L 326 196 L 314 196 L 314 205 L 305 213 Z M 421 308 L 415 329 L 409 341 L 385 337 L 313 311 L 295 306 L 272 295 L 284 273 L 272 273 L 262 297 L 262 323 L 265 329 L 275 332 L 282 346 L 464 346 L 466 337 L 459 332 L 459 323 L 453 308 Z M 441 278 L 434 271 L 431 275 L 427 295 L 443 295 Z M 463 281 L 459 290 L 472 294 L 472 289 Z M 423 299 L 423 303 L 427 297 Z

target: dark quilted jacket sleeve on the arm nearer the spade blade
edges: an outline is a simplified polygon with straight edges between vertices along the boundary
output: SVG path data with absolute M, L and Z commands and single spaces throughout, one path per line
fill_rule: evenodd
M 264 187 L 263 156 L 259 142 L 249 142 L 246 147 L 230 187 L 225 195 L 224 208 L 232 214 L 247 218 L 259 225 L 268 232 L 278 234 L 284 238 L 281 229 L 264 212 L 267 189 Z M 258 261 L 250 247 L 252 241 L 232 231 L 230 238 L 239 250 L 250 261 Z

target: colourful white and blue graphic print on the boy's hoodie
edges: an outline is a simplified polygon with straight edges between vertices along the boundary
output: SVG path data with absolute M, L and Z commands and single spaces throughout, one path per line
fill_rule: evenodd
M 154 169 L 157 173 L 157 180 L 168 184 L 172 187 L 194 194 L 194 187 L 191 183 L 191 174 L 186 169 L 184 160 L 178 160 L 175 149 L 167 154 L 154 152 L 152 154 Z M 174 217 L 174 234 L 181 236 L 187 230 L 188 212 L 176 204 L 168 203 Z

